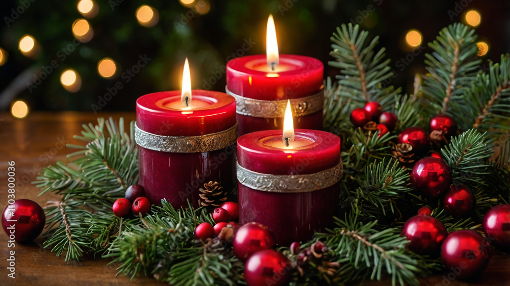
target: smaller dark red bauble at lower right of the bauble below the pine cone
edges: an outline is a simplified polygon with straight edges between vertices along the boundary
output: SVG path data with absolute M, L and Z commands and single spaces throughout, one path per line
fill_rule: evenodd
M 443 197 L 443 207 L 446 213 L 455 219 L 468 217 L 475 209 L 475 196 L 464 186 L 451 186 Z

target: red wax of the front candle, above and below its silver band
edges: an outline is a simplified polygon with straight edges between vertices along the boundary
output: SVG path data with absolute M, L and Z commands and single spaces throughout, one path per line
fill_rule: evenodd
M 260 131 L 239 137 L 238 162 L 251 171 L 275 174 L 313 174 L 340 162 L 340 138 L 336 135 L 296 129 L 296 139 L 313 141 L 296 149 L 282 149 L 264 144 L 268 138 L 282 138 L 282 131 Z M 333 223 L 339 204 L 340 184 L 304 193 L 258 191 L 238 184 L 239 222 L 256 221 L 268 226 L 279 245 L 307 241 L 316 231 Z

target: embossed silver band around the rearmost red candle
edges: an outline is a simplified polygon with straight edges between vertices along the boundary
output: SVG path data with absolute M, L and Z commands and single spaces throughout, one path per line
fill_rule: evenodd
M 287 100 L 260 100 L 243 97 L 232 93 L 225 87 L 226 93 L 236 98 L 236 112 L 252 117 L 277 118 L 284 117 Z M 324 88 L 307 97 L 290 100 L 292 115 L 305 116 L 321 111 L 324 106 Z

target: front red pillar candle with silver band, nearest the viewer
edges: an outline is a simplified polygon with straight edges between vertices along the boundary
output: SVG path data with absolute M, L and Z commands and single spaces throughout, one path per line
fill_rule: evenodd
M 282 135 L 259 131 L 237 140 L 239 222 L 260 222 L 288 246 L 333 223 L 342 163 L 334 134 L 296 129 L 288 147 Z

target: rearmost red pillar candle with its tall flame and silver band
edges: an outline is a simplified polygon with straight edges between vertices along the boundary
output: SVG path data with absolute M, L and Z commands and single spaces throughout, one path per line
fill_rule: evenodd
M 276 35 L 270 38 L 271 20 L 267 55 L 240 57 L 226 65 L 226 92 L 236 97 L 239 135 L 282 129 L 287 99 L 296 128 L 321 130 L 324 66 L 310 57 L 278 55 Z

